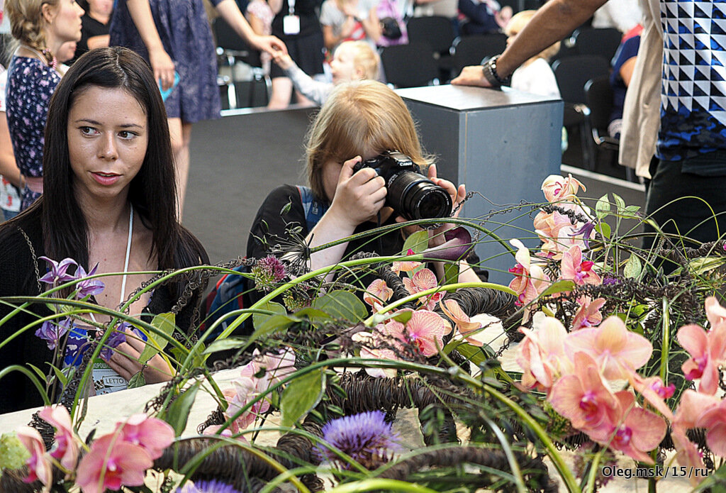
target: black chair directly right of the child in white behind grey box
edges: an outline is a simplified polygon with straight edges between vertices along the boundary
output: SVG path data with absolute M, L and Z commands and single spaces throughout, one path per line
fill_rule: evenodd
M 582 163 L 595 169 L 595 157 L 590 144 L 590 108 L 585 100 L 585 83 L 590 79 L 608 77 L 610 64 L 596 55 L 576 55 L 552 64 L 560 95 L 565 102 L 563 126 L 578 128 L 582 147 Z

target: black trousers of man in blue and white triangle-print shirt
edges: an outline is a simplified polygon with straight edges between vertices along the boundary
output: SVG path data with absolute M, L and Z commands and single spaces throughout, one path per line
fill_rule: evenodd
M 698 174 L 690 172 L 694 170 Z M 650 176 L 645 213 L 664 232 L 690 239 L 684 242 L 686 246 L 726 235 L 726 151 L 679 161 L 654 158 Z M 645 232 L 654 233 L 655 229 L 646 224 Z M 653 235 L 647 235 L 643 246 L 650 248 L 653 240 Z

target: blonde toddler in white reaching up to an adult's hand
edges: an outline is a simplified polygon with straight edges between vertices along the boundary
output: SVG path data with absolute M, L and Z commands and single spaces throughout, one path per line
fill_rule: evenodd
M 274 62 L 285 70 L 285 75 L 293 81 L 295 89 L 322 106 L 336 84 L 378 78 L 380 58 L 365 41 L 344 41 L 335 49 L 333 60 L 330 61 L 333 83 L 314 80 L 300 70 L 288 54 L 277 53 Z

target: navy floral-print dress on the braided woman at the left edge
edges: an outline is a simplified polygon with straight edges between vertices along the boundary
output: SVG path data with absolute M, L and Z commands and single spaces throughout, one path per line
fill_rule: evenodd
M 7 69 L 7 126 L 15 162 L 25 176 L 43 176 L 45 121 L 59 82 L 60 74 L 37 58 L 14 56 Z M 40 195 L 26 187 L 20 210 Z

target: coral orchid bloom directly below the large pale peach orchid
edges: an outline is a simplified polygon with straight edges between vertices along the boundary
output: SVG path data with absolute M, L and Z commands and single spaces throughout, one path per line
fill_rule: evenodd
M 619 402 L 605 386 L 597 363 L 585 353 L 574 356 L 576 372 L 563 375 L 552 386 L 550 404 L 571 421 L 574 428 L 589 432 L 607 433 L 613 426 Z

